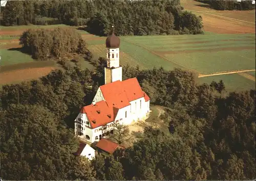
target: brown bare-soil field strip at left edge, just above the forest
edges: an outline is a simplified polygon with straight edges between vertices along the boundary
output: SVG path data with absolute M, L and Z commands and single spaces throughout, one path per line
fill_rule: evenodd
M 38 79 L 41 76 L 49 74 L 55 67 L 28 68 L 21 70 L 7 71 L 0 73 L 0 84 L 12 82 L 22 82 L 26 80 Z

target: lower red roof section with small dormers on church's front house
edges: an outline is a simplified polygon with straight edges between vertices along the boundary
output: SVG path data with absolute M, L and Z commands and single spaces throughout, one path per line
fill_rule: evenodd
M 96 102 L 95 105 L 84 106 L 80 113 L 86 113 L 92 128 L 114 120 L 113 109 L 104 100 Z

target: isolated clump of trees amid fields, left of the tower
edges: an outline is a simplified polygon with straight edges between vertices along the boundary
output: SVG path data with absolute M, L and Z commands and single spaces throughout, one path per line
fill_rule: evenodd
M 74 53 L 84 55 L 87 60 L 92 58 L 86 42 L 73 28 L 29 29 L 22 34 L 19 44 L 35 59 L 60 58 Z

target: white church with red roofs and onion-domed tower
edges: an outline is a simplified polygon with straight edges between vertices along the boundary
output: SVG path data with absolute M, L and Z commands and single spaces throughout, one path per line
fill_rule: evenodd
M 89 143 L 113 134 L 113 123 L 128 125 L 150 112 L 150 97 L 141 89 L 137 78 L 122 80 L 120 39 L 114 29 L 105 44 L 105 84 L 98 88 L 92 104 L 84 106 L 75 119 L 75 135 Z

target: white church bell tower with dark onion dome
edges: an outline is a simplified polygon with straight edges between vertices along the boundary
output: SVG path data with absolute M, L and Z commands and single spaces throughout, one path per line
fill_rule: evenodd
M 105 84 L 122 81 L 122 67 L 119 65 L 120 39 L 114 33 L 114 26 L 112 28 L 112 35 L 106 38 Z

